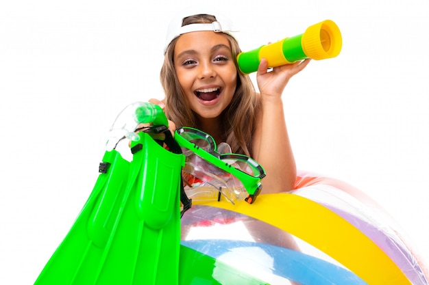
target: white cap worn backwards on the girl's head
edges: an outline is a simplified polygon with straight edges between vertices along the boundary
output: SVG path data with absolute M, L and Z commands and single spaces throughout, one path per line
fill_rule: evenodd
M 200 14 L 215 16 L 216 21 L 213 23 L 190 24 L 182 27 L 184 18 Z M 229 18 L 217 11 L 198 8 L 187 9 L 178 13 L 177 16 L 171 20 L 167 30 L 167 38 L 165 39 L 164 53 L 167 51 L 167 48 L 169 47 L 169 44 L 172 40 L 184 33 L 191 33 L 193 31 L 215 31 L 217 33 L 228 33 L 228 35 L 235 38 L 234 35 L 232 35 L 232 32 L 238 30 L 235 29 Z

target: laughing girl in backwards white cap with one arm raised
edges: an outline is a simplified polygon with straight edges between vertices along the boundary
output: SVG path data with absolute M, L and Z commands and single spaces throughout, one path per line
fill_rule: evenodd
M 241 52 L 230 23 L 215 13 L 183 14 L 167 33 L 160 80 L 161 102 L 171 130 L 191 126 L 225 141 L 265 168 L 261 193 L 293 189 L 296 166 L 284 119 L 282 92 L 308 59 L 273 68 L 262 59 L 256 75 L 260 93 L 236 64 Z

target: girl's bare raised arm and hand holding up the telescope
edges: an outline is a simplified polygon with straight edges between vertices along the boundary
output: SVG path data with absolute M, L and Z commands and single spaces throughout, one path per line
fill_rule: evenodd
M 254 132 L 254 159 L 265 168 L 262 193 L 279 193 L 293 189 L 296 165 L 286 128 L 282 93 L 293 75 L 303 70 L 309 59 L 273 68 L 267 72 L 267 60 L 262 59 L 257 81 L 262 108 Z

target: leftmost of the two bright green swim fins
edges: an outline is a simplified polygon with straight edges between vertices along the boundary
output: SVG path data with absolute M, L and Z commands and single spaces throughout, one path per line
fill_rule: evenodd
M 84 275 L 86 282 L 82 284 L 96 280 L 95 267 L 99 266 L 114 218 L 119 214 L 129 168 L 130 163 L 116 150 L 104 154 L 92 193 L 35 284 L 77 284 Z M 89 262 L 94 264 L 88 267 Z

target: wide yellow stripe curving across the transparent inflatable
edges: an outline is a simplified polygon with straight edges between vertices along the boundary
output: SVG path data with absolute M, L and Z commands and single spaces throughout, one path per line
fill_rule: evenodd
M 195 203 L 197 204 L 197 203 Z M 369 285 L 412 285 L 406 275 L 363 232 L 328 208 L 290 193 L 259 195 L 254 204 L 198 203 L 265 221 L 325 252 Z

